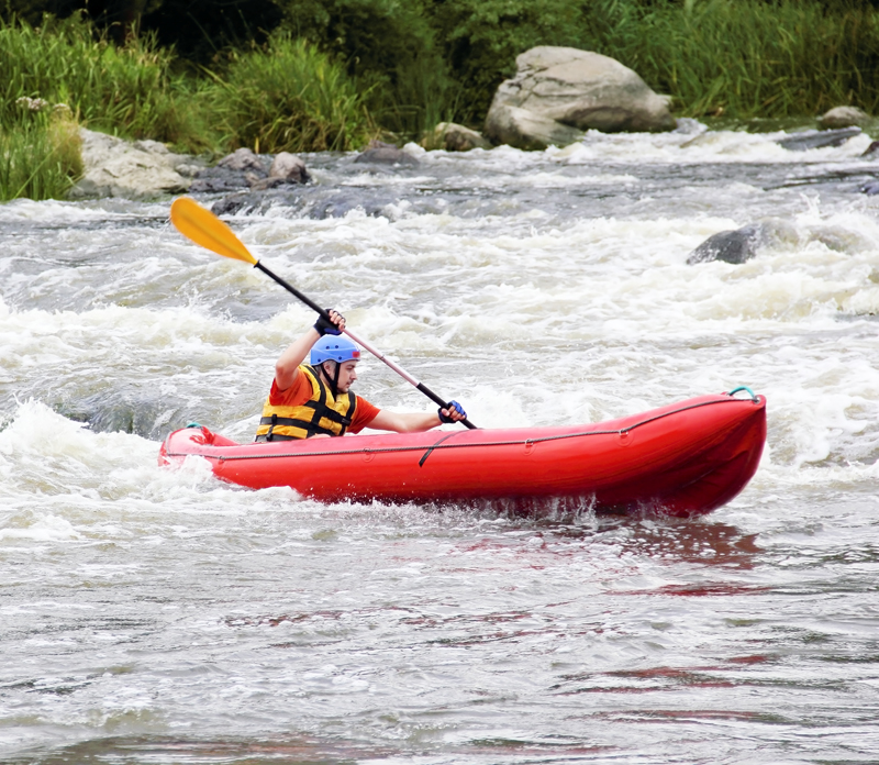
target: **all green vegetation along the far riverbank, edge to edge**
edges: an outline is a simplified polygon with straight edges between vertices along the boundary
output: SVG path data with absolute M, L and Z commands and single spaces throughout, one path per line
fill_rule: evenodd
M 480 127 L 534 45 L 612 56 L 679 117 L 879 109 L 879 0 L 153 0 L 141 15 L 115 0 L 94 18 L 77 4 L 0 0 L 0 198 L 63 195 L 76 124 L 214 154 Z

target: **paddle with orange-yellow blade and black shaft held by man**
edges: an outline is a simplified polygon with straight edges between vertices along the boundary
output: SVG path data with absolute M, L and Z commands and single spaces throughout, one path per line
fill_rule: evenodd
M 189 197 L 179 197 L 178 199 L 174 200 L 171 203 L 171 223 L 174 223 L 177 231 L 179 231 L 187 239 L 192 240 L 196 244 L 200 244 L 202 247 L 205 247 L 218 255 L 222 255 L 223 257 L 230 257 L 233 260 L 243 260 L 244 263 L 249 263 L 254 268 L 258 268 L 264 274 L 275 279 L 275 281 L 277 281 L 288 292 L 299 298 L 312 311 L 316 311 L 326 321 L 330 321 L 330 314 L 326 312 L 326 309 L 321 308 L 309 297 L 300 292 L 296 287 L 288 284 L 277 274 L 274 274 L 266 268 L 249 253 L 247 247 L 244 246 L 244 243 L 237 236 L 235 236 L 232 229 L 223 223 L 223 221 L 221 221 L 210 210 L 201 207 L 201 204 L 196 202 L 194 199 L 190 199 Z M 448 401 L 439 398 L 426 385 L 412 377 L 412 375 L 410 375 L 405 369 L 398 366 L 387 356 L 385 356 L 383 353 L 377 348 L 374 348 L 369 343 L 363 341 L 360 337 L 357 337 L 349 330 L 344 330 L 344 332 L 355 343 L 369 351 L 369 353 L 371 353 L 376 358 L 385 362 L 385 364 L 400 375 L 400 377 L 402 377 L 407 382 L 415 386 L 415 388 L 431 399 L 431 401 L 439 404 L 443 409 L 449 408 Z M 464 419 L 460 422 L 471 430 L 476 428 L 476 425 L 467 419 Z

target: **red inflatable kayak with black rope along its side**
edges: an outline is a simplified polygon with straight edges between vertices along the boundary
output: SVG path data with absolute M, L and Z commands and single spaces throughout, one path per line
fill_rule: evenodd
M 500 500 L 539 510 L 598 508 L 705 513 L 750 480 L 766 440 L 766 399 L 701 396 L 609 422 L 561 428 L 429 431 L 237 444 L 203 426 L 175 431 L 159 464 L 190 455 L 218 478 L 289 486 L 322 501 Z

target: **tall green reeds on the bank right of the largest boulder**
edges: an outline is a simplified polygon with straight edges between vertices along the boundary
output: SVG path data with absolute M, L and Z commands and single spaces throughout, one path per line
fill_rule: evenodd
M 600 0 L 593 8 L 581 46 L 674 96 L 678 113 L 777 118 L 879 107 L 879 13 L 869 5 Z

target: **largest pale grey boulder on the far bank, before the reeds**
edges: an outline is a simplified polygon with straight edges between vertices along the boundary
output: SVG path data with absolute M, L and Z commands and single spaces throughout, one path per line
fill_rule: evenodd
M 541 45 L 515 59 L 516 75 L 498 87 L 486 118 L 486 135 L 497 143 L 534 147 L 542 136 L 574 143 L 578 132 L 605 133 L 674 130 L 668 98 L 658 96 L 620 62 L 590 51 Z M 525 118 L 523 110 L 533 118 Z M 561 131 L 546 121 L 572 129 Z M 538 135 L 516 137 L 519 127 L 536 121 Z M 511 134 L 512 129 L 512 134 Z M 561 144 L 556 144 L 561 145 Z

